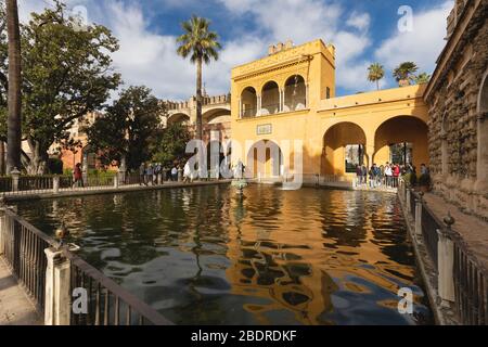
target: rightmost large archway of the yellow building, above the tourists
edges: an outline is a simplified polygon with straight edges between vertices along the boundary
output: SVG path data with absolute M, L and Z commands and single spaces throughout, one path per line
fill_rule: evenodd
M 390 118 L 376 129 L 373 162 L 377 165 L 413 164 L 420 169 L 422 164 L 429 163 L 427 136 L 428 127 L 420 118 L 414 116 Z

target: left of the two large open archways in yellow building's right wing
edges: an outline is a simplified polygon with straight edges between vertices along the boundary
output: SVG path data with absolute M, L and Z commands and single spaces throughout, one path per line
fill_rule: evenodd
M 354 123 L 339 123 L 323 137 L 321 175 L 344 176 L 365 163 L 365 133 Z

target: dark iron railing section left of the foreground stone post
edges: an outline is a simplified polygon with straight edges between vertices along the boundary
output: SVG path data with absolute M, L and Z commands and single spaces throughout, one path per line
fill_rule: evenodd
M 38 310 L 43 312 L 48 265 L 44 249 L 57 246 L 57 242 L 30 226 L 9 208 L 4 208 L 3 214 L 0 229 L 0 254 L 3 253 L 12 273 L 25 286 Z

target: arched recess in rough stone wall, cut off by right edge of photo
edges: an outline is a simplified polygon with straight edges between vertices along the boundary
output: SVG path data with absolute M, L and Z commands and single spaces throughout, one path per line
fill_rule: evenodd
M 478 153 L 475 190 L 480 193 L 486 193 L 488 191 L 488 69 L 486 70 L 479 87 L 477 108 Z

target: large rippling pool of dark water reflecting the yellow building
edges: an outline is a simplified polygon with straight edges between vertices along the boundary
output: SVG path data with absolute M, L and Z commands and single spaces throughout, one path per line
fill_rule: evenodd
M 429 324 L 395 195 L 226 185 L 17 203 L 178 324 Z M 413 314 L 398 290 L 413 291 Z

